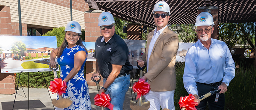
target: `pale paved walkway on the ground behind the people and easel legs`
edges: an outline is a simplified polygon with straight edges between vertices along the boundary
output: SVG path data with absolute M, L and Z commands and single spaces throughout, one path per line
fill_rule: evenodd
M 137 81 L 133 80 L 133 83 Z M 132 81 L 131 81 L 132 84 Z M 24 90 L 24 92 L 22 91 Z M 29 109 L 30 110 L 54 110 L 51 98 L 56 99 L 57 95 L 48 93 L 48 89 L 42 88 L 18 88 L 14 110 L 28 110 L 28 91 L 29 91 Z M 101 110 L 100 107 L 94 105 L 94 96 L 97 94 L 96 86 L 89 86 L 89 93 L 91 97 L 92 110 Z M 25 93 L 25 95 L 24 95 Z M 12 95 L 4 95 L 0 94 L 0 110 L 12 110 L 14 103 L 15 94 Z M 133 93 L 133 100 L 135 99 Z M 123 105 L 123 110 L 131 110 L 130 109 L 130 100 L 131 98 L 131 89 L 126 93 L 125 103 Z M 144 102 L 144 97 L 143 97 Z

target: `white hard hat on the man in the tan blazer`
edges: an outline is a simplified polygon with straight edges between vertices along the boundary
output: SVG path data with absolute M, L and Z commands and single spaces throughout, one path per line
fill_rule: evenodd
M 155 4 L 153 14 L 156 11 L 167 12 L 168 15 L 170 15 L 170 13 L 171 13 L 169 5 L 165 1 L 159 1 L 157 4 Z

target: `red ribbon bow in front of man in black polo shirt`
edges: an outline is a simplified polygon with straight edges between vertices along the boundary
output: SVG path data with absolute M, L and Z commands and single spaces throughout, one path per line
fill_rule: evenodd
M 104 92 L 101 93 L 101 95 L 97 94 L 94 98 L 94 104 L 97 106 L 104 106 L 108 107 L 110 110 L 113 110 L 113 104 L 109 103 L 111 100 L 110 96 L 108 94 L 105 94 Z

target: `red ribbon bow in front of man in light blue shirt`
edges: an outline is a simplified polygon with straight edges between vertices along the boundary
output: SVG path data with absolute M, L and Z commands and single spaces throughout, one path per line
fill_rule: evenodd
M 179 99 L 179 107 L 186 108 L 187 110 L 196 110 L 196 107 L 198 103 L 194 102 L 195 97 L 192 94 L 189 94 L 189 96 L 180 97 Z

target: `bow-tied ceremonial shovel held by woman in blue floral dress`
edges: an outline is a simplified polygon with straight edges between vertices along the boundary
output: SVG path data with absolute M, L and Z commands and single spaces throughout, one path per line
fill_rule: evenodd
M 59 94 L 59 99 L 52 99 L 52 104 L 58 108 L 67 108 L 72 104 L 72 100 L 70 100 L 70 97 L 68 97 L 67 99 L 63 99 L 62 94 L 65 93 L 66 91 L 66 82 L 62 82 L 62 80 L 60 78 L 58 78 L 57 76 L 57 72 L 56 70 L 59 68 L 58 64 L 56 64 L 56 68 L 52 68 L 50 67 L 50 70 L 53 71 L 54 74 L 54 81 L 50 81 L 50 91 L 52 93 L 56 93 Z M 64 85 L 64 86 L 63 86 Z M 63 91 L 63 89 L 65 91 Z M 61 91 L 62 90 L 62 91 Z

